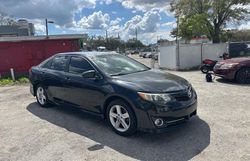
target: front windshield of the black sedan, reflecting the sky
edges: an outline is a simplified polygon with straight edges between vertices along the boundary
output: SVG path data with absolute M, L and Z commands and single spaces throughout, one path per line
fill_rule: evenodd
M 97 55 L 93 58 L 93 61 L 103 72 L 111 76 L 126 75 L 150 69 L 134 59 L 120 54 Z

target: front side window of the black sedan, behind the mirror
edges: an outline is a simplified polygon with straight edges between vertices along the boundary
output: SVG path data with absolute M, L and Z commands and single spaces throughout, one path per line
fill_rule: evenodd
M 82 74 L 83 72 L 94 70 L 89 62 L 81 57 L 71 57 L 69 63 L 69 73 Z

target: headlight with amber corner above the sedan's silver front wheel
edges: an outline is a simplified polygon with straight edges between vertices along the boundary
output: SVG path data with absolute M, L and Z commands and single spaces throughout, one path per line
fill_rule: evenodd
M 138 92 L 139 96 L 147 101 L 155 102 L 158 104 L 166 104 L 172 100 L 169 94 L 153 94 Z

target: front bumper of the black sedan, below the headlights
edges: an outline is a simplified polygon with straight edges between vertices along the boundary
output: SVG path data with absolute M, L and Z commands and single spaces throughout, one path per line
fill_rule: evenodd
M 147 111 L 137 109 L 138 129 L 140 131 L 161 133 L 172 130 L 197 115 L 197 96 L 188 102 L 180 103 L 180 105 L 170 107 L 166 111 L 164 111 L 164 108 L 156 107 L 153 104 L 154 107 Z M 155 124 L 156 119 L 163 120 L 163 124 L 157 126 Z

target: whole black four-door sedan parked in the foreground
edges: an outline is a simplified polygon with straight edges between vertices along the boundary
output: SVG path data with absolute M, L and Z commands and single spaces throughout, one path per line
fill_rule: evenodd
M 100 115 L 119 135 L 161 132 L 196 115 L 185 79 L 113 52 L 60 53 L 30 70 L 42 107 L 66 105 Z

